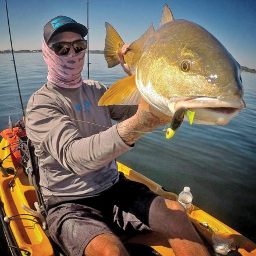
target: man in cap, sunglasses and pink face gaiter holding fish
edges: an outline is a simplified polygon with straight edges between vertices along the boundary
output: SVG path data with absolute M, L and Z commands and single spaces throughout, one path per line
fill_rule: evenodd
M 98 106 L 106 87 L 81 79 L 86 34 L 65 16 L 45 25 L 48 81 L 27 104 L 52 239 L 67 255 L 118 256 L 129 255 L 118 235 L 154 230 L 168 237 L 176 255 L 208 255 L 179 202 L 118 172 L 115 158 L 171 118 L 143 99 L 138 106 Z

